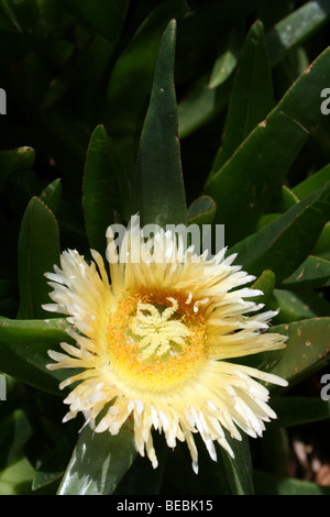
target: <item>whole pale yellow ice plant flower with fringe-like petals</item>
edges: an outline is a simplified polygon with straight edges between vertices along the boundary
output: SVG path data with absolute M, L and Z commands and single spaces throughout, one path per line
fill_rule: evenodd
M 197 472 L 195 433 L 216 461 L 215 441 L 233 455 L 226 431 L 238 440 L 240 430 L 257 437 L 276 418 L 265 383 L 286 381 L 231 360 L 280 349 L 286 338 L 266 332 L 276 312 L 249 301 L 260 292 L 242 287 L 254 277 L 232 265 L 235 255 L 197 255 L 161 229 L 145 241 L 138 221 L 132 218 L 119 254 L 109 228 L 111 284 L 92 250 L 90 263 L 65 251 L 61 268 L 46 273 L 55 304 L 44 308 L 68 315 L 76 342 L 62 343 L 65 353 L 50 351 L 48 369 L 80 369 L 61 384 L 78 382 L 64 420 L 82 411 L 95 432 L 116 435 L 130 419 L 136 450 L 154 468 L 152 431 L 158 430 L 170 448 L 187 442 Z

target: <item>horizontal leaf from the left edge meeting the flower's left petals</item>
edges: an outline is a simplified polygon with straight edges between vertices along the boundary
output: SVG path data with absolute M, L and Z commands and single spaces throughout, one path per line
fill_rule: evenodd
M 62 351 L 58 343 L 72 343 L 63 319 L 0 320 L 0 371 L 42 389 L 61 395 L 58 384 L 68 376 L 65 370 L 50 371 L 47 351 Z M 73 371 L 70 371 L 72 374 Z

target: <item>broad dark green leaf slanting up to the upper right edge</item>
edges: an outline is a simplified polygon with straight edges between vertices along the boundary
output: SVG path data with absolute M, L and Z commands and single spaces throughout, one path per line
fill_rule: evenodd
M 221 207 L 215 222 L 226 224 L 230 245 L 255 231 L 274 189 L 283 183 L 310 130 L 318 124 L 319 91 L 324 78 L 329 76 L 330 80 L 329 62 L 330 50 L 327 50 L 206 183 L 206 194 Z

